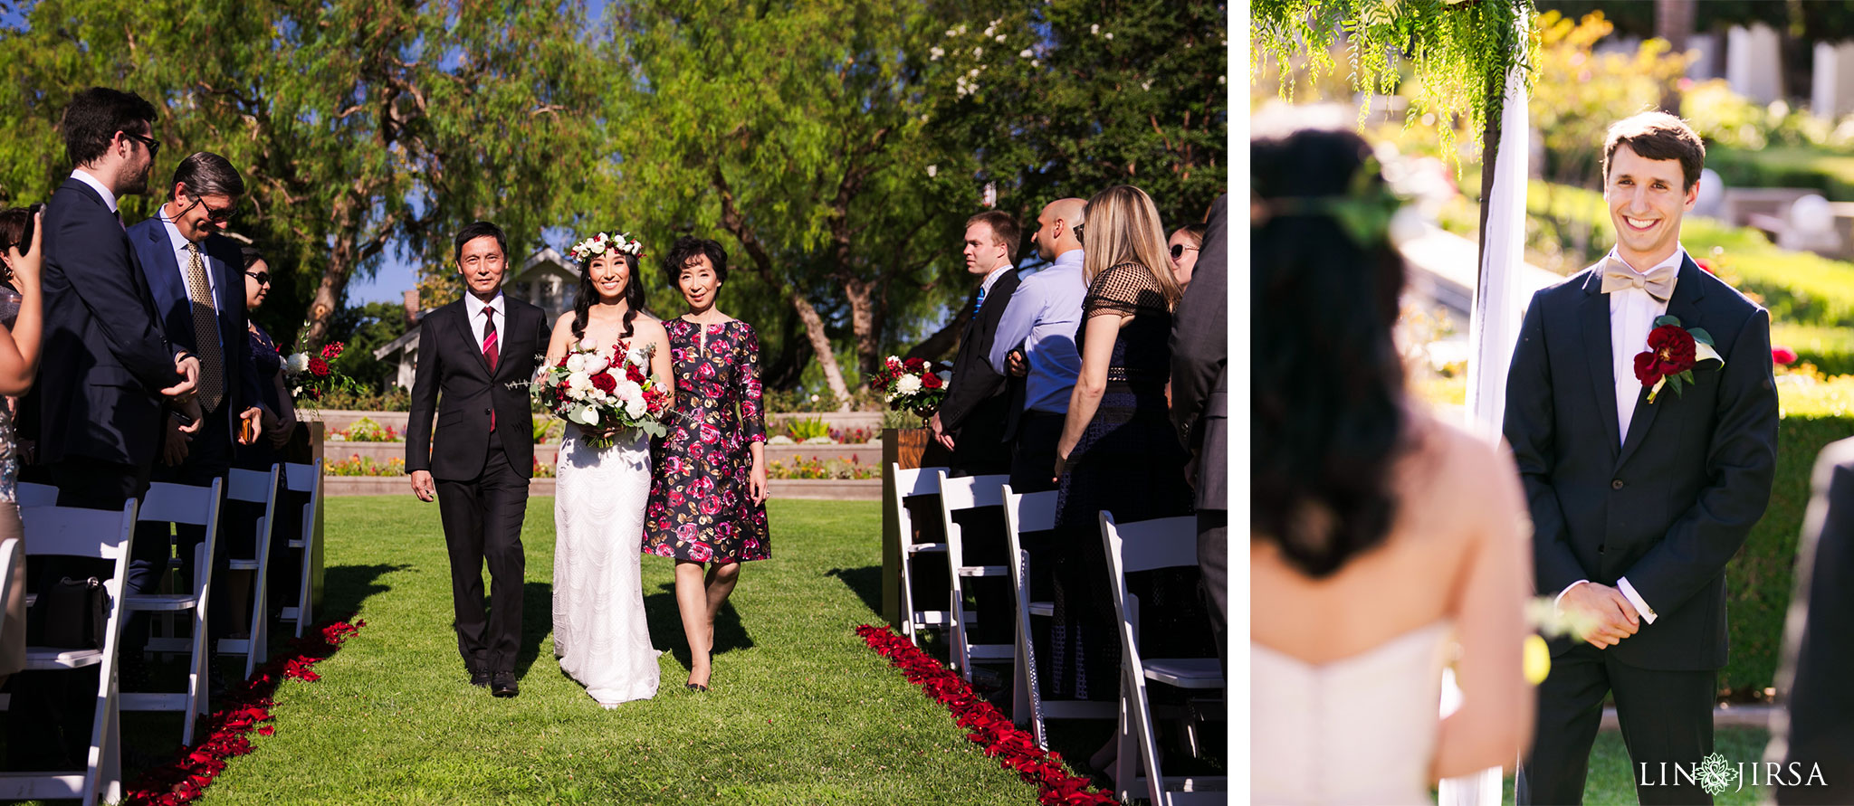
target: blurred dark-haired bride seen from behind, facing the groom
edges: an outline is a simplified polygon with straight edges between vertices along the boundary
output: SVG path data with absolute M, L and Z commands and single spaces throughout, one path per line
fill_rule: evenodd
M 1403 389 L 1402 258 L 1327 213 L 1394 208 L 1359 176 L 1370 146 L 1302 130 L 1251 154 L 1250 799 L 1435 802 L 1530 732 L 1526 500 L 1504 450 Z

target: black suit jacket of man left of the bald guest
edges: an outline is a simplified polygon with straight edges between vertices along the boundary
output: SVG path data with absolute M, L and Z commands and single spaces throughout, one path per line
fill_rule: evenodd
M 1005 306 L 1010 304 L 1020 282 L 1016 269 L 1005 269 L 984 295 L 984 306 L 979 306 L 979 313 L 966 321 L 959 335 L 953 382 L 947 384 L 946 398 L 940 402 L 940 426 L 953 434 L 955 465 L 962 458 L 981 461 L 988 458 L 1007 465 L 1010 461 L 1005 450 L 1005 424 L 1012 415 L 1014 378 L 997 374 L 988 356 L 997 337 L 997 321 L 1005 315 Z

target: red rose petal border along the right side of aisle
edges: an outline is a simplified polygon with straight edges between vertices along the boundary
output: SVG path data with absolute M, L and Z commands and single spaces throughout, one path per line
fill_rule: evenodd
M 1036 737 L 1020 730 L 1010 717 L 971 691 L 959 674 L 929 658 L 890 626 L 862 624 L 857 628 L 862 643 L 920 686 L 959 717 L 966 739 L 984 745 L 986 756 L 997 756 L 997 765 L 1014 769 L 1020 778 L 1036 784 L 1036 802 L 1044 806 L 1118 804 L 1112 795 L 1096 789 L 1088 778 L 1068 775 L 1062 756 L 1036 747 Z

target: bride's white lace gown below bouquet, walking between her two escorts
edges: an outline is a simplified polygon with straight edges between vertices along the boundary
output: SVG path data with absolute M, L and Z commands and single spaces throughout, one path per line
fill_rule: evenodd
M 567 428 L 554 478 L 554 658 L 606 708 L 656 695 L 640 552 L 649 498 L 649 437 L 597 450 Z

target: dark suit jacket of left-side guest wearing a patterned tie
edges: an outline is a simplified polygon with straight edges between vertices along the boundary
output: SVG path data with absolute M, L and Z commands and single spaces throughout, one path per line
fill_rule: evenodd
M 193 335 L 193 300 L 187 298 L 187 283 L 180 274 L 180 252 L 174 250 L 161 219 L 148 219 L 128 228 L 128 241 L 135 248 L 141 274 L 148 282 L 154 296 L 156 324 L 167 341 L 180 350 L 198 354 L 198 341 Z M 219 415 L 226 421 L 226 434 L 237 437 L 237 415 L 258 406 L 258 367 L 250 356 L 250 337 L 247 334 L 245 313 L 245 272 L 237 241 L 224 235 L 208 235 L 200 245 L 200 259 L 213 282 L 213 306 L 219 311 L 219 345 L 222 354 L 224 402 Z

